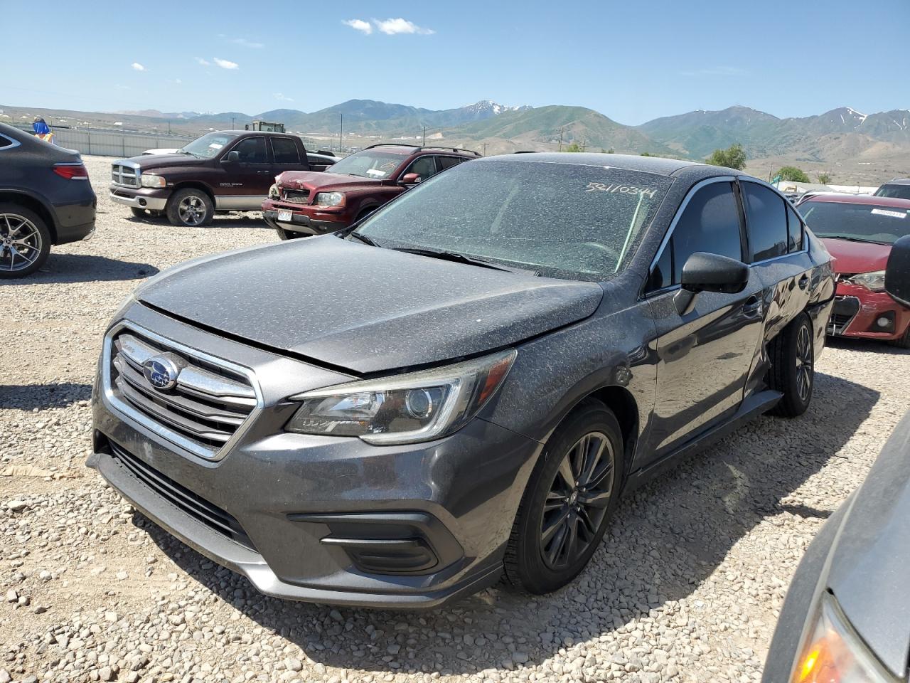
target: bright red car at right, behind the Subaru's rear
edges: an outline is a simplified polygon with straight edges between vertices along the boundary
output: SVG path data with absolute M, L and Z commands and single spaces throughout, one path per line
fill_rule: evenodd
M 891 246 L 910 235 L 910 199 L 817 195 L 798 209 L 834 256 L 837 294 L 828 334 L 910 349 L 910 308 L 885 291 Z

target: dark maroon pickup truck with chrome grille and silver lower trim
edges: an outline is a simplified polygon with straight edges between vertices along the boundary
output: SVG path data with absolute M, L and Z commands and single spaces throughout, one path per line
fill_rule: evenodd
M 205 226 L 217 211 L 258 211 L 278 174 L 325 170 L 334 161 L 308 153 L 297 136 L 218 130 L 174 154 L 115 161 L 110 198 L 136 216 L 166 214 L 173 225 Z

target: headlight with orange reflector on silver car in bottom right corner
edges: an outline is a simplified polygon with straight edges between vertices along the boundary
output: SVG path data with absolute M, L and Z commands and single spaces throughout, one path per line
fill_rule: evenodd
M 896 683 L 844 617 L 834 596 L 822 594 L 790 683 Z

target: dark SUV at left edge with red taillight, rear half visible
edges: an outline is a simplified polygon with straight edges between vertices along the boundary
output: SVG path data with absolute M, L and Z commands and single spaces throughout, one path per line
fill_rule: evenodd
M 0 124 L 0 279 L 41 268 L 52 244 L 91 237 L 95 209 L 78 152 Z

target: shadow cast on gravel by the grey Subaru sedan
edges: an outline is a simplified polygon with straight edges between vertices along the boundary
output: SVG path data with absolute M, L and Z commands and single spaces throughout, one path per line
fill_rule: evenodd
M 261 596 L 245 578 L 213 566 L 139 513 L 134 523 L 199 584 L 327 666 L 379 674 L 472 674 L 541 664 L 563 647 L 619 629 L 635 647 L 649 639 L 650 647 L 661 647 L 658 629 L 692 627 L 699 618 L 679 601 L 712 576 L 753 527 L 780 523 L 786 515 L 814 517 L 821 525 L 832 511 L 792 494 L 830 458 L 847 457 L 851 447 L 844 446 L 878 395 L 817 373 L 814 401 L 804 416 L 760 418 L 627 495 L 591 564 L 549 596 L 496 586 L 424 612 L 292 603 Z M 765 552 L 771 559 L 756 558 L 756 572 L 773 572 L 766 566 L 776 553 Z M 740 576 L 736 586 L 730 571 L 712 580 L 723 584 L 718 590 L 724 595 L 744 596 L 734 591 L 749 577 Z M 641 617 L 652 617 L 645 623 L 651 630 L 642 631 L 641 621 L 630 624 Z M 553 675 L 560 678 L 558 673 Z

